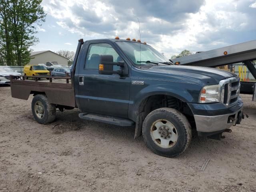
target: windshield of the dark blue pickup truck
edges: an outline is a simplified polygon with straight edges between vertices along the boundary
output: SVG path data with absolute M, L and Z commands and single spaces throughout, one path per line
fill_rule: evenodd
M 157 50 L 149 45 L 135 42 L 118 41 L 116 42 L 123 52 L 134 62 L 140 65 L 152 65 L 154 62 L 168 62 L 170 61 L 160 54 Z M 140 58 L 141 57 L 141 58 Z M 151 62 L 149 62 L 151 61 Z

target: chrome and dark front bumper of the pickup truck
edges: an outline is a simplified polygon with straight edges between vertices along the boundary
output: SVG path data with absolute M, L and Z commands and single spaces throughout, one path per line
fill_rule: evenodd
M 230 107 L 230 108 L 221 108 L 221 109 L 215 109 L 219 110 L 220 115 L 214 115 L 209 116 L 209 105 L 210 104 L 200 104 L 200 110 L 196 110 L 195 108 L 191 108 L 192 112 L 194 112 L 194 119 L 196 122 L 196 130 L 198 132 L 207 132 L 207 133 L 213 133 L 214 132 L 221 132 L 229 128 L 230 126 L 236 125 L 236 122 L 240 122 L 242 118 L 242 108 L 243 108 L 243 102 L 241 98 L 238 98 L 238 102 Z M 195 106 L 195 105 L 194 105 Z M 215 108 L 216 106 L 214 106 Z M 224 106 L 225 107 L 225 106 Z M 203 108 L 205 108 L 205 114 L 203 115 Z M 213 110 L 213 108 L 212 108 Z M 214 111 L 213 114 L 216 114 L 216 111 Z

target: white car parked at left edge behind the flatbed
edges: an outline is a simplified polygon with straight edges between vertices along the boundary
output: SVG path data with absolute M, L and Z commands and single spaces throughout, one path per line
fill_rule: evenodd
M 9 66 L 0 66 L 0 84 L 10 84 L 10 75 L 15 76 L 15 79 L 19 79 L 21 74 L 12 70 Z

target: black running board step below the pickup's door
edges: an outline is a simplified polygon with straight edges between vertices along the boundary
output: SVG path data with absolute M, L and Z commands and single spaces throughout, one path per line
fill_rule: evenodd
M 119 126 L 132 126 L 134 124 L 134 121 L 130 119 L 104 116 L 104 115 L 93 114 L 93 113 L 80 113 L 78 116 L 81 119 L 98 121 L 102 123 L 108 123 L 108 124 L 119 125 Z

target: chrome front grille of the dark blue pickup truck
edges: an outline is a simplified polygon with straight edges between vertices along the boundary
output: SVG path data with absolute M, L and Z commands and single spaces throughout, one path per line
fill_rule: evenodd
M 238 100 L 240 93 L 240 78 L 231 77 L 220 81 L 220 101 L 225 105 L 232 105 Z

